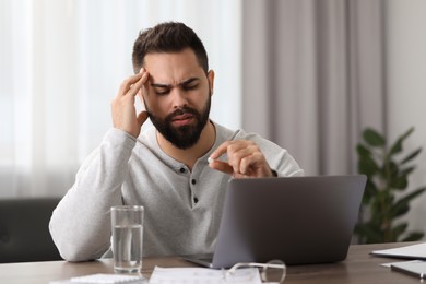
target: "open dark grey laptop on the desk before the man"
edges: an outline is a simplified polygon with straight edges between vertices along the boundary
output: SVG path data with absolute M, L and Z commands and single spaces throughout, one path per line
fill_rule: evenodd
M 364 175 L 230 179 L 214 253 L 182 258 L 214 269 L 342 261 L 366 181 Z

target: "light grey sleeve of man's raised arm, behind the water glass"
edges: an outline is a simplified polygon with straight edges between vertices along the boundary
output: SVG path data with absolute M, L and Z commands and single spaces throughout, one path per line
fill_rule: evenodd
M 135 139 L 111 129 L 82 164 L 74 185 L 55 209 L 51 237 L 68 261 L 99 258 L 110 247 L 110 206 L 121 204 L 121 185 Z

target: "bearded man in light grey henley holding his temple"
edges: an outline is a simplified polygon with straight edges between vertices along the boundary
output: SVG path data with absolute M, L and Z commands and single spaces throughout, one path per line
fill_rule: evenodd
M 230 177 L 303 175 L 276 144 L 209 119 L 214 72 L 186 25 L 141 33 L 132 61 L 135 74 L 111 103 L 114 128 L 50 221 L 55 244 L 70 261 L 109 249 L 109 209 L 122 203 L 145 209 L 144 256 L 212 252 Z M 135 96 L 146 108 L 140 114 Z M 147 117 L 154 128 L 140 133 Z

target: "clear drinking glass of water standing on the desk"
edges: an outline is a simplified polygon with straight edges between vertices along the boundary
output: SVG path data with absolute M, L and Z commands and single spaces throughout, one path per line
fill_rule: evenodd
M 111 208 L 114 270 L 139 273 L 142 269 L 143 206 Z

